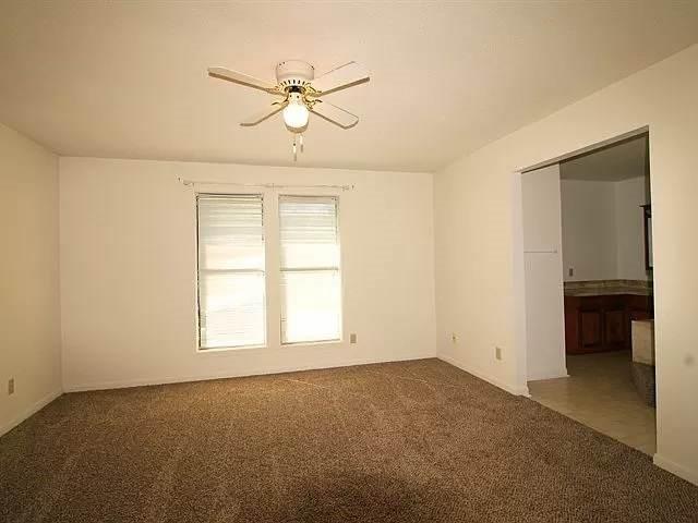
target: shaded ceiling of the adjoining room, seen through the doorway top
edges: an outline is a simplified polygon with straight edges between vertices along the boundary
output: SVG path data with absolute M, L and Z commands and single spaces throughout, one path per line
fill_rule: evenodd
M 563 180 L 593 180 L 618 182 L 645 175 L 647 135 L 589 155 L 563 161 L 559 177 Z

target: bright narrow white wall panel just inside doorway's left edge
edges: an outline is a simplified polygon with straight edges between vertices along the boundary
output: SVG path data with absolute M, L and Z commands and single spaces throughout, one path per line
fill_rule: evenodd
M 567 376 L 559 165 L 521 175 L 528 380 Z

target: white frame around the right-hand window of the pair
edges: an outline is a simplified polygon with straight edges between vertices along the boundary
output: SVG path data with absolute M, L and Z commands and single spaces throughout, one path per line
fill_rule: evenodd
M 312 340 L 312 341 L 284 341 L 284 315 L 282 315 L 282 304 L 280 296 L 281 289 L 281 275 L 284 272 L 284 268 L 281 267 L 281 198 L 332 198 L 335 200 L 335 228 L 337 231 L 337 245 L 339 246 L 339 259 L 337 263 L 337 268 L 315 268 L 316 270 L 337 270 L 339 272 L 339 336 L 338 338 L 332 338 L 326 340 Z M 340 212 L 340 197 L 338 194 L 297 194 L 297 193 L 278 193 L 276 196 L 276 232 L 277 232 L 277 259 L 276 267 L 278 269 L 278 333 L 279 333 L 279 346 L 298 346 L 298 345 L 329 345 L 337 344 L 344 342 L 344 332 L 345 332 L 345 280 L 344 280 L 344 248 L 341 244 L 341 212 Z M 303 270 L 303 269 L 300 269 Z M 306 270 L 306 269 L 305 269 Z M 292 270 L 291 270 L 292 271 Z M 297 271 L 299 271 L 297 269 Z

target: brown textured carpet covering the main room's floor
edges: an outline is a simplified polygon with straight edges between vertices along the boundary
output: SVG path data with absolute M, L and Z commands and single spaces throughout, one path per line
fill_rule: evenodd
M 436 360 L 65 394 L 4 522 L 696 522 L 650 458 Z

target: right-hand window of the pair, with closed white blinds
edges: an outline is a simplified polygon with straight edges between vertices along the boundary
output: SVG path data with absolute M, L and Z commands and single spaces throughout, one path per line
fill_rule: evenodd
M 281 343 L 341 338 L 337 198 L 279 197 Z

